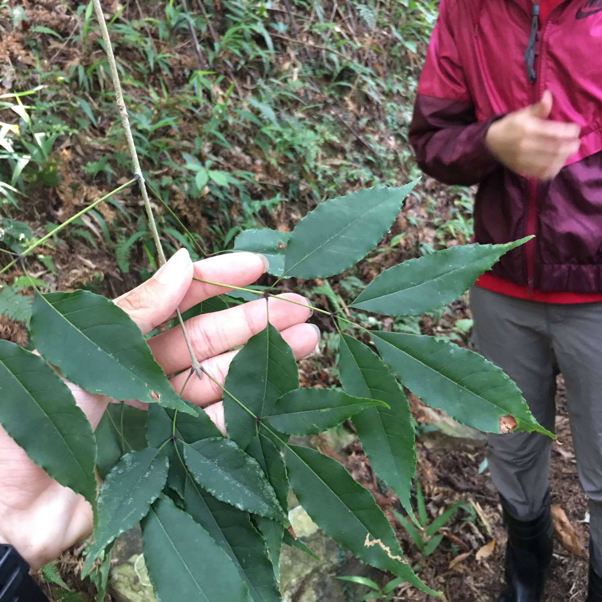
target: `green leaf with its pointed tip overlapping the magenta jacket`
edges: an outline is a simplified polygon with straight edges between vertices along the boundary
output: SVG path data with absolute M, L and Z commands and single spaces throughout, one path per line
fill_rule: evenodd
M 511 249 L 507 244 L 467 244 L 409 259 L 376 276 L 350 307 L 384 315 L 416 315 L 451 303 Z

